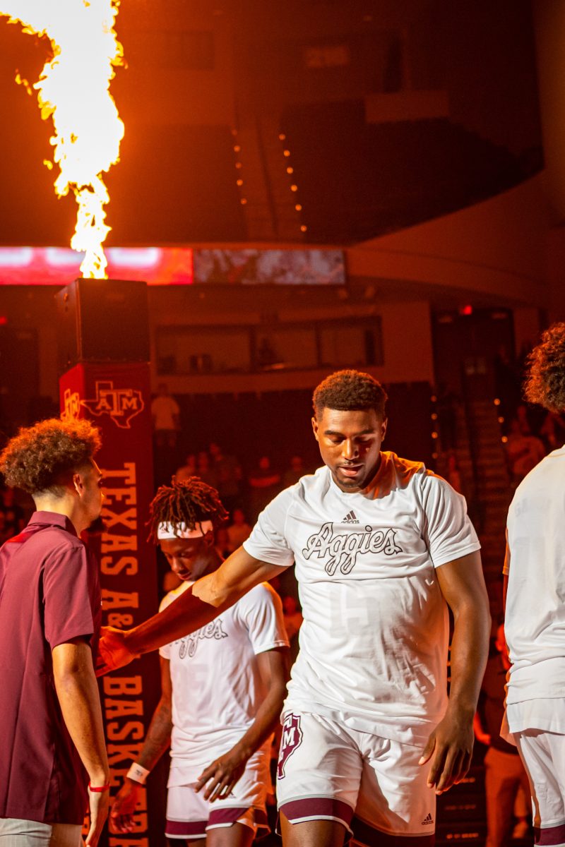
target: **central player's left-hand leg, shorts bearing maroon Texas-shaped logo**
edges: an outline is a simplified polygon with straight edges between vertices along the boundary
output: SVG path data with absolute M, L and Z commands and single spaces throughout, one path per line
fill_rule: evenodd
M 349 833 L 362 758 L 341 723 L 285 715 L 277 767 L 284 847 L 341 847 Z

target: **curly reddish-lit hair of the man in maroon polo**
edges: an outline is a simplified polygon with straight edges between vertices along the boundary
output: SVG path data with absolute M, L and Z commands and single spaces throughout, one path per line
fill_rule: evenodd
M 84 467 L 102 440 L 87 420 L 48 418 L 19 429 L 0 453 L 0 472 L 8 485 L 36 494 L 61 493 L 61 480 Z

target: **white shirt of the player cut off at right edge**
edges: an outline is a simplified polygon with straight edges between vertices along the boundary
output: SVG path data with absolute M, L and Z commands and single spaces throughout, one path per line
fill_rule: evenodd
M 518 485 L 508 512 L 504 629 L 512 662 L 507 688 L 512 732 L 565 732 L 565 710 L 557 709 L 554 700 L 562 700 L 565 691 L 564 523 L 562 447 Z

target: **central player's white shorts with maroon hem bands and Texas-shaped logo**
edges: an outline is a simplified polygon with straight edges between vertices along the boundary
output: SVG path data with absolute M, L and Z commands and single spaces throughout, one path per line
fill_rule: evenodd
M 368 844 L 376 830 L 417 837 L 424 847 L 434 840 L 435 790 L 426 784 L 429 763 L 418 765 L 420 756 L 421 746 L 320 715 L 287 713 L 277 770 L 279 811 L 291 823 L 340 822 Z

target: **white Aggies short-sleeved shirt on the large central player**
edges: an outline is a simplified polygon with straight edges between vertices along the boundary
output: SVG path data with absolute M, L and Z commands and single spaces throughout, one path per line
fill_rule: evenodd
M 363 493 L 319 468 L 274 498 L 244 544 L 296 563 L 304 623 L 285 711 L 425 741 L 446 709 L 448 617 L 435 567 L 479 549 L 465 500 L 421 462 L 381 453 Z

